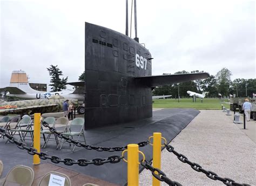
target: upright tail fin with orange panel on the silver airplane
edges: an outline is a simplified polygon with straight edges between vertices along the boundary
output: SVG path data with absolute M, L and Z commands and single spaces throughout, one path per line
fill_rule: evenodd
M 35 89 L 29 86 L 28 77 L 25 71 L 12 71 L 11 73 L 11 80 L 10 80 L 11 87 L 17 87 L 21 89 L 23 92 L 26 93 L 36 93 Z

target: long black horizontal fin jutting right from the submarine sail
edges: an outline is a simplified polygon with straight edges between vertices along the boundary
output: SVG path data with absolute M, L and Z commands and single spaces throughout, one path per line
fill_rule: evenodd
M 152 75 L 145 77 L 137 77 L 136 81 L 149 87 L 163 86 L 174 84 L 177 82 L 192 81 L 197 79 L 208 78 L 208 73 L 191 73 L 191 74 L 173 74 L 173 75 Z

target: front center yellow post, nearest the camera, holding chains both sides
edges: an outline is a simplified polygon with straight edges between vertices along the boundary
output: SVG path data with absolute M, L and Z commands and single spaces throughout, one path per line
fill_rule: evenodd
M 127 146 L 127 185 L 139 185 L 139 146 L 128 144 Z

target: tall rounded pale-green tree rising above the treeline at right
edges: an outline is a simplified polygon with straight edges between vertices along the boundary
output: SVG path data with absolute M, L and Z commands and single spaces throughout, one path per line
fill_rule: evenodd
M 216 80 L 217 80 L 217 88 L 219 93 L 223 96 L 228 96 L 228 90 L 231 86 L 231 71 L 227 68 L 222 68 L 219 72 L 216 74 Z

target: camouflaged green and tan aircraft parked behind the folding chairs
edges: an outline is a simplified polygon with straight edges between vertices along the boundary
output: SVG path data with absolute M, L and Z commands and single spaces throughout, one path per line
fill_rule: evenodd
M 0 115 L 7 114 L 33 114 L 33 113 L 51 113 L 62 112 L 63 102 L 66 99 L 60 95 L 53 95 L 49 99 L 34 99 L 22 101 L 9 101 L 0 100 Z M 70 99 L 69 103 L 73 103 L 75 107 L 78 106 L 77 99 Z

